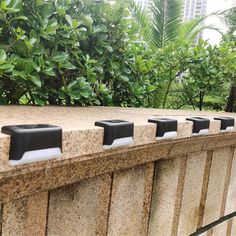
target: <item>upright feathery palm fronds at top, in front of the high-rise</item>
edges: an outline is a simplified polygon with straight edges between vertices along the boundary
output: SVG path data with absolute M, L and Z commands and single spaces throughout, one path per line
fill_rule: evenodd
M 182 23 L 180 0 L 153 0 L 150 12 L 134 0 L 130 1 L 133 16 L 142 27 L 143 37 L 153 46 L 164 47 L 178 36 Z

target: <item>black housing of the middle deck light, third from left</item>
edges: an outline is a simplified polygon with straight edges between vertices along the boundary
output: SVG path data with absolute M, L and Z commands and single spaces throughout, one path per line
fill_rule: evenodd
M 177 120 L 168 118 L 152 118 L 148 122 L 157 124 L 156 137 L 163 137 L 167 132 L 177 132 Z

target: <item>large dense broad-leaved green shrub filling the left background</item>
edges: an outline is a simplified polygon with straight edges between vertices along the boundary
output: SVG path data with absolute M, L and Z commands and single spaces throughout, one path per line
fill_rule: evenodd
M 122 1 L 2 0 L 0 104 L 142 105 L 137 30 Z

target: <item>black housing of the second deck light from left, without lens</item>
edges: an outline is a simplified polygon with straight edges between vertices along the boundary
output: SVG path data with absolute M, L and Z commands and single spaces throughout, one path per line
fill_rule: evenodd
M 104 128 L 103 145 L 112 145 L 115 139 L 133 137 L 134 123 L 125 120 L 101 120 L 96 126 Z

